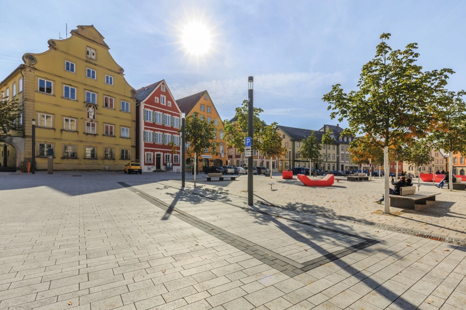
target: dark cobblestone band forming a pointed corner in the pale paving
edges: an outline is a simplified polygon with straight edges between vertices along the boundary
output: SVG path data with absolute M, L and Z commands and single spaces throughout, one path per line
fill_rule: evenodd
M 306 226 L 312 226 L 312 227 L 316 227 L 316 228 L 319 228 L 319 229 L 322 229 L 322 230 L 326 230 L 326 231 L 330 231 L 330 232 L 334 232 L 334 233 L 339 233 L 339 234 L 342 234 L 342 235 L 347 235 L 347 236 L 351 236 L 351 237 L 356 237 L 356 238 L 359 238 L 359 239 L 362 239 L 364 240 L 363 242 L 359 243 L 359 244 L 356 244 L 356 245 L 353 245 L 351 247 L 348 247 L 348 248 L 344 248 L 344 249 L 341 249 L 341 250 L 338 250 L 338 251 L 335 251 L 335 252 L 332 252 L 332 253 L 329 253 L 327 255 L 323 255 L 321 257 L 318 257 L 314 260 L 311 260 L 311 261 L 308 261 L 308 262 L 305 262 L 305 263 L 297 263 L 289 258 L 286 258 L 278 253 L 275 253 L 274 251 L 271 251 L 269 249 L 266 249 L 266 248 L 263 248 L 253 242 L 250 242 L 244 238 L 241 238 L 233 233 L 229 233 L 211 223 L 208 223 L 208 222 L 205 222 L 203 220 L 201 220 L 200 218 L 198 217 L 194 217 L 186 212 L 183 212 L 181 211 L 180 209 L 178 208 L 175 208 L 174 206 L 172 205 L 169 205 L 167 204 L 166 202 L 163 202 L 139 189 L 136 189 L 135 187 L 131 186 L 131 185 L 128 185 L 127 183 L 125 182 L 117 182 L 119 185 L 121 186 L 124 186 L 126 188 L 128 188 L 129 190 L 131 190 L 133 193 L 136 193 L 138 194 L 141 198 L 145 199 L 146 201 L 152 203 L 153 205 L 157 206 L 158 208 L 162 209 L 163 211 L 167 212 L 167 213 L 170 213 L 172 216 L 174 217 L 177 217 L 183 221 L 185 221 L 186 223 L 189 223 L 190 225 L 202 230 L 203 232 L 206 232 L 206 233 L 209 233 L 210 235 L 212 236 L 215 236 L 217 239 L 219 240 L 222 240 L 230 245 L 232 245 L 233 247 L 247 253 L 247 254 L 250 254 L 251 256 L 253 256 L 254 258 L 260 260 L 261 262 L 263 263 L 266 263 L 267 265 L 269 265 L 270 267 L 286 274 L 287 276 L 289 277 L 295 277 L 297 275 L 300 275 L 306 271 L 309 271 L 311 269 L 314 269 L 320 265 L 323 265 L 324 263 L 329 263 L 329 262 L 332 262 L 334 260 L 337 260 L 339 258 L 342 258 L 346 255 L 349 255 L 351 253 L 354 253 L 360 249 L 363 249 L 363 248 L 367 248 L 367 247 L 370 247 L 374 244 L 377 244 L 379 243 L 379 241 L 377 240 L 374 240 L 374 239 L 370 239 L 370 238 L 366 238 L 366 237 L 361 237 L 361 236 L 358 236 L 358 235 L 355 235 L 355 234 L 351 234 L 351 233 L 344 233 L 344 232 L 341 232 L 341 231 L 337 231 L 337 230 L 333 230 L 333 229 L 329 229 L 329 228 L 325 228 L 325 227 L 321 227 L 321 226 L 318 226 L 318 225 L 314 225 L 314 224 L 310 224 L 310 223 L 306 223 L 306 222 L 303 222 L 303 221 L 298 221 L 298 220 L 294 220 L 294 219 L 291 219 L 291 218 L 287 218 L 287 217 L 282 217 L 283 219 L 286 219 L 288 221 L 292 221 L 292 222 L 296 222 L 296 223 L 300 223 L 302 225 L 306 225 Z M 190 191 L 187 191 L 187 193 L 190 193 L 190 194 L 194 194 L 194 195 L 200 195 L 200 194 L 197 194 L 197 193 L 193 193 L 193 192 L 190 192 Z M 202 196 L 202 195 L 200 195 Z M 208 198 L 208 199 L 212 199 L 208 196 L 203 196 L 205 198 Z M 212 199 L 214 200 L 214 199 Z M 267 212 L 264 212 L 264 211 L 260 211 L 260 210 L 253 210 L 253 209 L 250 209 L 250 208 L 245 208 L 245 207 L 242 207 L 242 206 L 237 206 L 237 205 L 234 205 L 232 203 L 228 203 L 228 202 L 222 202 L 222 203 L 225 203 L 225 204 L 228 204 L 228 205 L 231 205 L 231 206 L 234 206 L 234 207 L 237 207 L 237 208 L 241 208 L 241 209 L 245 209 L 245 210 L 248 210 L 248 211 L 252 211 L 252 212 L 259 212 L 259 213 L 262 213 L 262 214 L 265 214 L 265 215 L 268 215 L 268 216 L 274 216 L 273 214 L 269 214 Z

